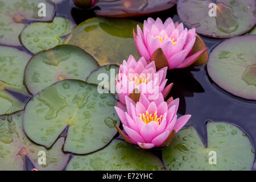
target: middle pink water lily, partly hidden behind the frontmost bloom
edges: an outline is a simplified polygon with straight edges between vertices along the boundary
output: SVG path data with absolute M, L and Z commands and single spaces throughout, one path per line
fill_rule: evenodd
M 125 97 L 131 93 L 143 93 L 148 99 L 154 100 L 159 93 L 166 97 L 173 84 L 166 86 L 167 67 L 156 71 L 155 63 L 147 64 L 144 57 L 138 61 L 133 56 L 123 60 L 115 80 L 115 90 L 119 101 L 126 104 Z M 166 88 L 164 88 L 166 86 Z

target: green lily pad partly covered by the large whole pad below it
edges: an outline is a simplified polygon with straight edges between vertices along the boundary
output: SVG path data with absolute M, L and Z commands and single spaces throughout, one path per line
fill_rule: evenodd
M 39 52 L 31 58 L 25 71 L 25 83 L 35 95 L 60 80 L 85 80 L 96 68 L 97 61 L 83 49 L 60 45 Z

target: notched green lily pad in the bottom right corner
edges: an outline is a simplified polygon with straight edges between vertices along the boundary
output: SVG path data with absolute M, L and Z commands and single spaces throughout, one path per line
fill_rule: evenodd
M 208 122 L 208 146 L 194 127 L 180 130 L 163 148 L 163 161 L 169 170 L 251 170 L 254 148 L 238 127 L 224 122 Z M 216 160 L 214 160 L 216 159 Z

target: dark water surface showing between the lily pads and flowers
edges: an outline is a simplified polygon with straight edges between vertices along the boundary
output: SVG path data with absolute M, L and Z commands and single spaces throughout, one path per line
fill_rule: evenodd
M 81 10 L 75 7 L 71 0 L 65 0 L 57 4 L 56 12 L 56 16 L 69 18 L 75 24 L 96 16 L 93 10 Z M 179 20 L 176 14 L 176 6 L 174 6 L 160 13 L 131 19 L 143 22 L 148 17 L 154 19 L 159 17 L 164 21 L 168 17 L 172 17 L 176 21 Z M 208 51 L 212 50 L 214 46 L 223 40 L 204 38 L 203 36 L 201 38 L 203 38 L 207 45 Z M 24 47 L 21 49 L 28 52 Z M 245 131 L 251 143 L 255 146 L 256 101 L 243 100 L 219 88 L 208 76 L 206 65 L 168 71 L 167 78 L 168 83 L 174 82 L 170 96 L 180 98 L 178 113 L 192 115 L 186 126 L 192 125 L 195 127 L 205 146 L 207 146 L 207 130 L 205 125 L 207 121 L 233 123 Z M 27 101 L 27 98 L 20 99 L 25 102 Z M 160 156 L 160 150 L 153 152 Z M 253 169 L 256 169 L 255 163 Z

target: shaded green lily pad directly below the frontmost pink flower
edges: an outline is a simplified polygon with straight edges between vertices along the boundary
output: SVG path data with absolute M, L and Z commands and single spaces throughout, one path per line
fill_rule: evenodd
M 68 171 L 158 171 L 164 170 L 165 167 L 150 151 L 115 139 L 100 151 L 87 155 L 75 155 L 66 169 Z

